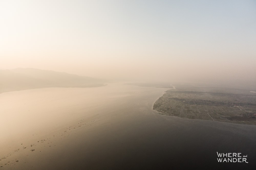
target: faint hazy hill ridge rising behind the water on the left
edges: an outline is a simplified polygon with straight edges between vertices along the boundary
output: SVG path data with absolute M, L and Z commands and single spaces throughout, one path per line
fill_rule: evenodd
M 0 70 L 0 93 L 42 87 L 97 87 L 103 80 L 64 72 L 17 68 Z

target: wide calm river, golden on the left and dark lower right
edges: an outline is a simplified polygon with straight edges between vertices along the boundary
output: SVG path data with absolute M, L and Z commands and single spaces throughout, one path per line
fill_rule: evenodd
M 255 169 L 256 126 L 158 114 L 164 88 L 122 83 L 0 94 L 2 169 Z M 247 162 L 218 162 L 241 153 Z

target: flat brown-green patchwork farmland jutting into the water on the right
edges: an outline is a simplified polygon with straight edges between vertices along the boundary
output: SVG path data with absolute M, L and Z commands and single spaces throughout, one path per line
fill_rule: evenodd
M 250 91 L 176 85 L 154 104 L 164 115 L 256 125 L 256 95 Z

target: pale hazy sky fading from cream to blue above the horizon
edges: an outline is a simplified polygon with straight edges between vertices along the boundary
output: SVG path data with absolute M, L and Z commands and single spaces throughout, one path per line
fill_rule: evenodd
M 255 80 L 256 1 L 0 1 L 0 69 Z

